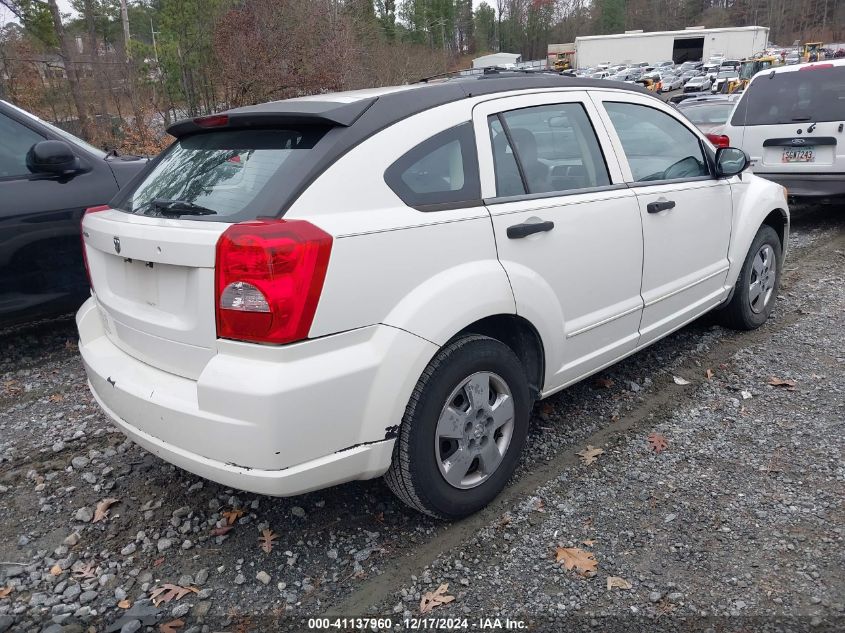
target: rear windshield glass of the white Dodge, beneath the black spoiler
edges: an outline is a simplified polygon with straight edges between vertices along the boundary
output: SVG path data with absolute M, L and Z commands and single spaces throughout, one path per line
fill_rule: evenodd
M 113 206 L 140 215 L 215 221 L 275 215 L 280 209 L 274 181 L 284 179 L 325 132 L 307 127 L 186 136 Z

